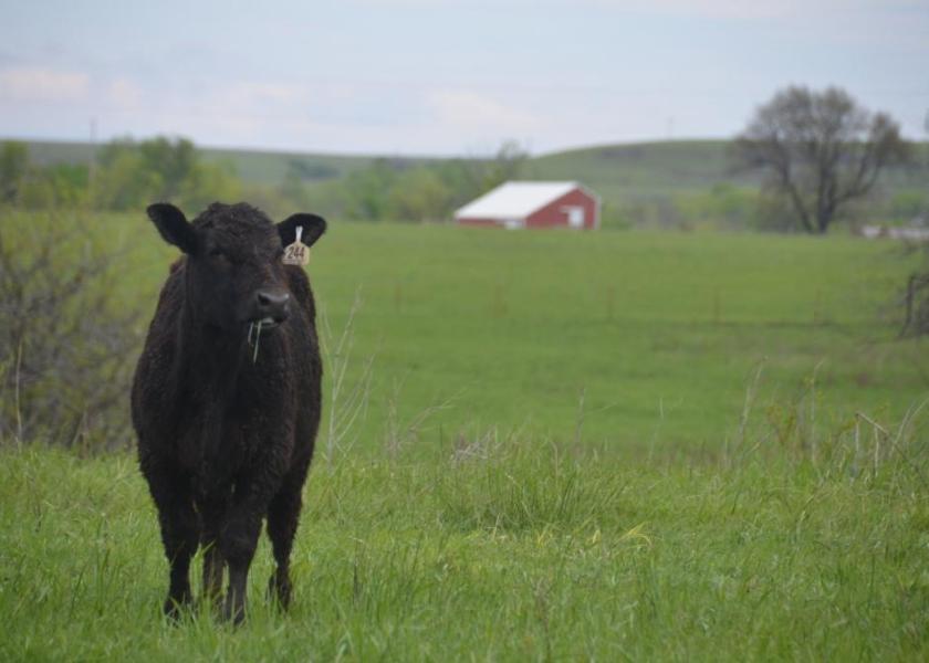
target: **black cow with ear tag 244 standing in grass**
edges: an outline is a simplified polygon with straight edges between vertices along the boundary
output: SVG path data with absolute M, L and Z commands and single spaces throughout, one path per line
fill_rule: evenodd
M 132 392 L 138 459 L 170 564 L 165 612 L 190 602 L 190 558 L 205 547 L 203 593 L 227 619 L 244 617 L 246 581 L 261 532 L 274 549 L 270 591 L 290 602 L 289 559 L 320 424 L 322 361 L 306 274 L 283 248 L 312 245 L 314 214 L 274 225 L 246 203 L 213 203 L 192 223 L 148 208 L 185 255 L 170 270 Z

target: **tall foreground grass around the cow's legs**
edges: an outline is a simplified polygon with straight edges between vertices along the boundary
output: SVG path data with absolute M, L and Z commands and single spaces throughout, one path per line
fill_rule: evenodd
M 296 594 L 250 617 L 159 612 L 166 564 L 134 462 L 0 459 L 0 656 L 920 660 L 925 412 L 857 466 L 771 435 L 685 465 L 486 433 L 311 473 Z M 826 432 L 848 453 L 854 427 Z M 467 451 L 466 451 L 467 450 Z M 195 589 L 196 589 L 195 577 Z

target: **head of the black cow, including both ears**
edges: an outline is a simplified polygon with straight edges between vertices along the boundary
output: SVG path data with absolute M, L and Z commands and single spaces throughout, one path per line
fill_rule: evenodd
M 292 304 L 283 248 L 293 243 L 298 227 L 307 246 L 326 229 L 315 214 L 294 214 L 275 225 L 246 203 L 213 203 L 192 223 L 173 204 L 147 211 L 165 241 L 187 254 L 188 305 L 208 325 L 231 333 L 286 320 Z

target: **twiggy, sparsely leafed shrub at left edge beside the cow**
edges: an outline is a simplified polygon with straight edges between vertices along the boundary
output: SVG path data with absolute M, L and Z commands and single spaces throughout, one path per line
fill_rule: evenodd
M 0 442 L 125 444 L 138 315 L 88 219 L 0 210 Z

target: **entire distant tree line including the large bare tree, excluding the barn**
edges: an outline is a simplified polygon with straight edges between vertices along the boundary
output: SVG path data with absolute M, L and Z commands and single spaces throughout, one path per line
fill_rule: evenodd
M 608 200 L 604 227 L 707 223 L 823 234 L 854 215 L 883 172 L 911 165 L 914 156 L 888 114 L 871 113 L 838 88 L 793 86 L 759 106 L 730 143 L 733 172 L 751 173 L 761 187 L 719 182 L 653 200 Z M 50 166 L 33 164 L 27 145 L 8 141 L 0 149 L 0 203 L 128 211 L 163 200 L 195 212 L 213 200 L 249 200 L 278 214 L 312 209 L 335 219 L 436 222 L 497 185 L 531 175 L 526 166 L 526 152 L 504 143 L 489 158 L 380 158 L 345 173 L 291 159 L 280 182 L 258 185 L 239 177 L 231 161 L 205 160 L 186 138 L 121 138 L 85 164 Z M 925 192 L 908 190 L 883 211 L 925 218 L 928 208 Z

